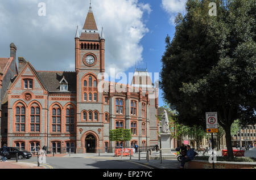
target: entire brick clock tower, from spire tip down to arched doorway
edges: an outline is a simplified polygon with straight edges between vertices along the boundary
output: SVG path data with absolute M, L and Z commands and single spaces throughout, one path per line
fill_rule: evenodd
M 98 79 L 98 74 L 105 72 L 105 39 L 103 28 L 100 36 L 91 6 L 81 35 L 77 27 L 75 55 L 77 81 L 76 144 L 77 153 L 83 153 L 88 144 L 92 145 L 93 151 L 96 148 L 95 142 L 88 143 L 85 139 L 92 136 L 91 138 L 100 143 L 101 146 L 103 136 L 100 136 L 98 131 L 104 131 L 102 121 L 104 119 L 104 109 L 102 108 L 104 97 L 103 93 L 98 91 L 98 84 L 104 78 Z M 100 146 L 97 145 L 97 148 Z

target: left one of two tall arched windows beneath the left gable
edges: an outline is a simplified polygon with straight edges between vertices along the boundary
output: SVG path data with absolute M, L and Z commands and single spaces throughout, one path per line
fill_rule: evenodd
M 16 107 L 15 126 L 16 126 L 16 132 L 25 132 L 25 108 L 24 108 L 24 106 Z

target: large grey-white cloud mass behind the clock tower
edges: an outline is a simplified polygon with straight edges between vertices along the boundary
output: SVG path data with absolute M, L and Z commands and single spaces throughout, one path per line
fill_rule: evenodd
M 38 16 L 34 0 L 4 0 L 0 5 L 0 57 L 9 56 L 9 44 L 17 46 L 18 56 L 32 63 L 37 70 L 72 70 L 75 65 L 75 33 L 84 25 L 89 1 L 45 0 L 46 16 Z M 148 32 L 143 14 L 150 14 L 150 5 L 137 0 L 94 0 L 92 10 L 97 27 L 105 34 L 105 68 L 117 72 L 143 60 L 140 44 Z M 2 37 L 1 37 L 2 38 Z

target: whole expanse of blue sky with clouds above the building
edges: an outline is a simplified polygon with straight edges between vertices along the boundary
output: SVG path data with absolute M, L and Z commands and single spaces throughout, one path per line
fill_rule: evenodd
M 39 16 L 38 5 L 46 5 Z M 173 20 L 184 14 L 186 0 L 92 0 L 98 29 L 104 27 L 105 69 L 134 72 L 137 67 L 160 72 L 165 38 L 174 35 Z M 17 57 L 36 70 L 75 71 L 75 34 L 81 32 L 89 0 L 2 0 L 0 2 L 0 57 L 9 57 L 11 42 Z M 18 58 L 17 58 L 18 61 Z M 152 77 L 154 78 L 154 76 Z M 130 82 L 129 82 L 130 83 Z M 159 106 L 164 105 L 159 89 Z

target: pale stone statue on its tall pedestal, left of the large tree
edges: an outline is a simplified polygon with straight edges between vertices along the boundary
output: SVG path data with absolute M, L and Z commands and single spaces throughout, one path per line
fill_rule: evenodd
M 166 110 L 164 110 L 164 114 L 162 115 L 162 131 L 160 133 L 162 153 L 171 153 L 170 138 L 169 119 Z

